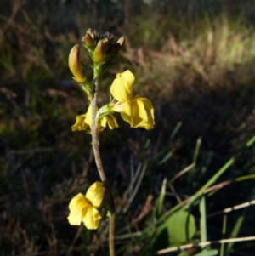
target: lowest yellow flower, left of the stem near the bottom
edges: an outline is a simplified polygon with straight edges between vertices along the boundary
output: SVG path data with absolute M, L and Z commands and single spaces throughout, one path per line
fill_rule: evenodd
M 88 230 L 96 230 L 102 218 L 98 208 L 101 207 L 105 193 L 102 182 L 96 181 L 88 188 L 85 196 L 79 193 L 69 203 L 70 214 L 67 217 L 71 225 L 81 225 L 83 222 Z

